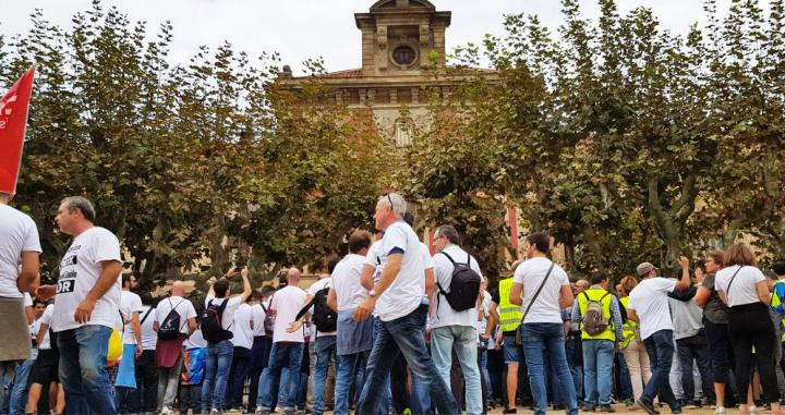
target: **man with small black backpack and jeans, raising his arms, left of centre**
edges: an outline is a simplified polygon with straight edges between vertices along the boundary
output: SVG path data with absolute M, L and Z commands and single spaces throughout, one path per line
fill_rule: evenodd
M 205 378 L 202 383 L 202 412 L 209 411 L 221 413 L 224 411 L 224 399 L 226 396 L 229 370 L 231 369 L 234 345 L 231 340 L 234 335 L 231 331 L 234 325 L 234 312 L 241 304 L 251 296 L 251 282 L 249 282 L 247 268 L 240 270 L 243 280 L 243 291 L 240 295 L 229 296 L 229 279 L 235 273 L 234 267 L 230 268 L 225 278 L 213 284 L 205 298 L 205 308 L 218 307 L 220 327 L 222 330 L 216 333 L 208 332 L 202 321 L 202 334 L 207 340 L 207 355 L 205 357 Z M 216 335 L 216 337 L 214 337 Z M 212 408 L 212 410 L 210 410 Z

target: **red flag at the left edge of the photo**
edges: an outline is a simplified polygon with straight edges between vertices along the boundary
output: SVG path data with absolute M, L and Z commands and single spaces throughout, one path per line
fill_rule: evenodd
M 0 192 L 14 195 L 22 162 L 35 65 L 0 99 Z

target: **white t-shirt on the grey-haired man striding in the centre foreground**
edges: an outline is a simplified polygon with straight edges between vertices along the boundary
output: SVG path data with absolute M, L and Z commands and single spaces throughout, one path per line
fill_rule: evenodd
M 425 297 L 425 264 L 422 244 L 409 224 L 400 220 L 385 230 L 382 239 L 382 267 L 387 266 L 390 252 L 401 252 L 398 276 L 376 301 L 382 321 L 391 321 L 411 314 Z

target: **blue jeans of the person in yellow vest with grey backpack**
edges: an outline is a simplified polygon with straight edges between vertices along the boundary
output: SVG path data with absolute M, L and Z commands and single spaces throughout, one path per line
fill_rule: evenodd
M 609 340 L 583 340 L 583 385 L 587 405 L 609 405 L 613 394 L 614 344 Z

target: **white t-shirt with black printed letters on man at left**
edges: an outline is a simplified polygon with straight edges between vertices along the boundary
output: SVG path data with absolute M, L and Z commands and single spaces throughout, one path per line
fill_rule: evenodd
M 120 242 L 113 233 L 100 227 L 93 227 L 74 239 L 60 261 L 60 278 L 55 302 L 52 329 L 57 331 L 75 329 L 86 325 L 99 325 L 114 328 L 120 319 L 120 293 L 122 292 L 120 273 L 117 281 L 98 298 L 93 316 L 86 325 L 74 320 L 76 307 L 93 290 L 104 268 L 101 261 L 120 259 Z

